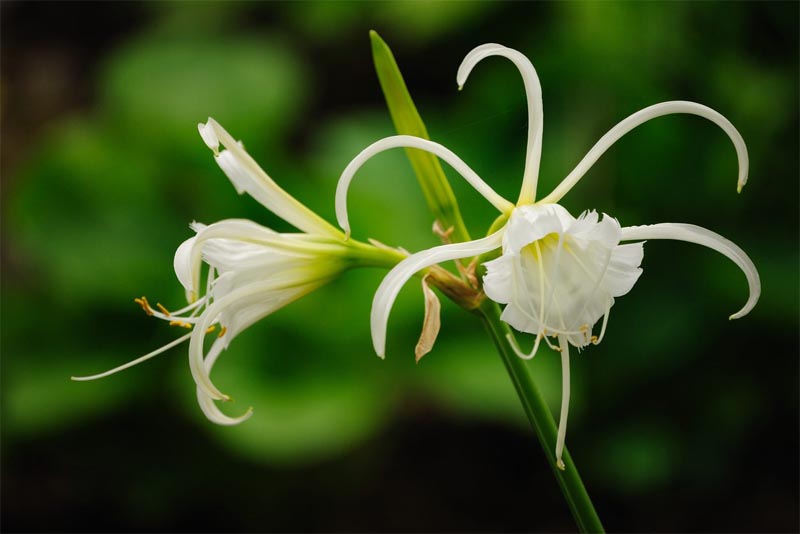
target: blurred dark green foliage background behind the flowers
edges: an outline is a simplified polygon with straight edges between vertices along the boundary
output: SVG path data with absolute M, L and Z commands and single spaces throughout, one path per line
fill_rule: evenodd
M 2 528 L 5 531 L 570 531 L 574 524 L 476 318 L 443 307 L 419 365 L 417 284 L 388 357 L 368 317 L 381 271 L 340 280 L 242 334 L 215 370 L 255 415 L 208 423 L 185 347 L 73 383 L 176 335 L 132 299 L 181 302 L 192 220 L 281 221 L 236 195 L 200 140 L 224 124 L 287 190 L 333 220 L 339 173 L 393 133 L 368 31 L 393 48 L 433 139 L 515 197 L 525 99 L 484 42 L 534 62 L 545 102 L 540 191 L 617 121 L 705 103 L 747 141 L 750 183 L 714 125 L 660 118 L 564 200 L 623 225 L 689 222 L 758 266 L 747 295 L 722 256 L 646 245 L 607 336 L 573 359 L 567 443 L 612 531 L 796 532 L 798 4 L 22 3 L 2 13 Z M 492 209 L 453 178 L 473 235 Z M 351 192 L 358 238 L 436 243 L 401 151 Z M 532 373 L 553 410 L 555 353 Z

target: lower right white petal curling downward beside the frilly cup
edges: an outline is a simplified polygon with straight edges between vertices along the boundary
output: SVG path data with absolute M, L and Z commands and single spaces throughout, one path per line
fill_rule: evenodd
M 747 278 L 747 284 L 750 287 L 750 296 L 747 298 L 747 303 L 745 303 L 744 307 L 730 316 L 731 319 L 744 317 L 750 313 L 750 310 L 752 310 L 756 302 L 758 302 L 758 297 L 761 295 L 761 279 L 758 276 L 756 266 L 753 265 L 753 262 L 742 249 L 721 235 L 693 224 L 678 223 L 629 226 L 622 229 L 623 241 L 639 239 L 676 239 L 678 241 L 687 241 L 716 250 L 735 263 Z

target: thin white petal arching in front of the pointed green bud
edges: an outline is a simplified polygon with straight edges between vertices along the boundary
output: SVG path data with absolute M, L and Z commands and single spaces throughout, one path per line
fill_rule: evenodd
M 498 195 L 489 184 L 484 182 L 481 177 L 469 167 L 469 165 L 464 163 L 461 158 L 456 156 L 448 148 L 439 143 L 434 143 L 433 141 L 413 135 L 394 135 L 376 141 L 362 150 L 353 158 L 353 161 L 345 167 L 342 176 L 339 178 L 339 183 L 336 186 L 336 220 L 347 235 L 350 235 L 350 221 L 347 217 L 347 190 L 350 187 L 353 176 L 355 176 L 356 171 L 371 157 L 392 148 L 416 148 L 418 150 L 430 152 L 442 158 L 447 164 L 453 167 L 453 169 L 498 210 L 501 212 L 508 212 L 514 208 L 511 202 Z

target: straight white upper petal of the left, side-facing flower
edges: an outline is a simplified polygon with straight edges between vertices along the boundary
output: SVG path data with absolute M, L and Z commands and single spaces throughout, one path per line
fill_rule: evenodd
M 220 124 L 208 118 L 197 125 L 200 136 L 239 194 L 247 192 L 275 215 L 312 234 L 340 239 L 339 230 L 284 191 Z M 219 150 L 219 145 L 226 150 Z

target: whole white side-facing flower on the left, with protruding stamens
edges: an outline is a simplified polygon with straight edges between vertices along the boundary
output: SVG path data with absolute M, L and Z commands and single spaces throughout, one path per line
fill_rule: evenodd
M 191 332 L 105 373 L 73 379 L 108 376 L 189 341 L 189 364 L 201 409 L 211 421 L 232 425 L 247 419 L 252 411 L 248 409 L 239 417 L 222 413 L 214 400 L 229 397 L 214 386 L 209 376 L 230 342 L 254 322 L 337 277 L 353 264 L 354 258 L 361 257 L 362 264 L 379 264 L 380 260 L 375 260 L 367 246 L 345 241 L 341 231 L 278 187 L 216 121 L 209 118 L 198 128 L 240 193 L 249 193 L 304 233 L 277 233 L 244 219 L 208 226 L 193 223 L 196 235 L 178 247 L 174 260 L 188 306 L 170 312 L 161 304 L 153 308 L 144 297 L 136 299 L 148 315 Z M 220 144 L 225 147 L 222 151 Z M 208 273 L 201 287 L 204 262 Z M 206 352 L 205 338 L 212 332 L 216 339 Z

